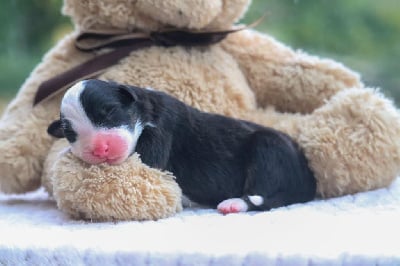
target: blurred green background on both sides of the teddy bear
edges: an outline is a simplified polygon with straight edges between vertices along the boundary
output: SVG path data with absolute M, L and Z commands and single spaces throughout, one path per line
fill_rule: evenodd
M 0 3 L 0 110 L 44 53 L 73 28 L 62 0 Z M 253 0 L 242 22 L 267 12 L 257 30 L 294 49 L 338 60 L 400 106 L 398 0 Z

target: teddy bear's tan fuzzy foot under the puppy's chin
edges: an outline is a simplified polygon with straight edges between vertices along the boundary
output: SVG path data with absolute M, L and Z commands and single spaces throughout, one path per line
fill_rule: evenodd
M 66 153 L 52 170 L 54 198 L 63 212 L 92 221 L 157 220 L 182 210 L 174 178 L 135 154 L 121 165 L 88 165 Z

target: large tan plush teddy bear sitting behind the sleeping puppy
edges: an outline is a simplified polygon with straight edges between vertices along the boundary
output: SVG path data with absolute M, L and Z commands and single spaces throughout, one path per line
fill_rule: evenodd
M 119 166 L 87 165 L 46 129 L 61 94 L 33 106 L 39 85 L 110 49 L 84 52 L 82 31 L 225 31 L 250 0 L 65 0 L 75 31 L 43 58 L 0 122 L 0 188 L 44 185 L 75 218 L 158 219 L 181 210 L 170 173 L 132 156 Z M 132 51 L 99 79 L 152 87 L 207 112 L 250 120 L 292 136 L 305 153 L 321 197 L 387 186 L 400 172 L 400 113 L 357 73 L 294 51 L 245 29 L 215 44 L 151 45 Z

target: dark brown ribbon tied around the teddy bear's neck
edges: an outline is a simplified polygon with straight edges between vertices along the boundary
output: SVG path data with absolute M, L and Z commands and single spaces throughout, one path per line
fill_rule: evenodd
M 94 78 L 104 73 L 107 68 L 117 64 L 131 52 L 152 45 L 169 46 L 205 46 L 220 42 L 228 34 L 254 27 L 264 19 L 265 15 L 247 26 L 234 27 L 222 31 L 184 31 L 164 30 L 158 32 L 121 32 L 121 31 L 86 31 L 75 40 L 77 49 L 83 52 L 93 52 L 103 48 L 113 48 L 112 51 L 98 55 L 80 65 L 77 65 L 40 84 L 33 105 L 64 91 L 73 83 Z

